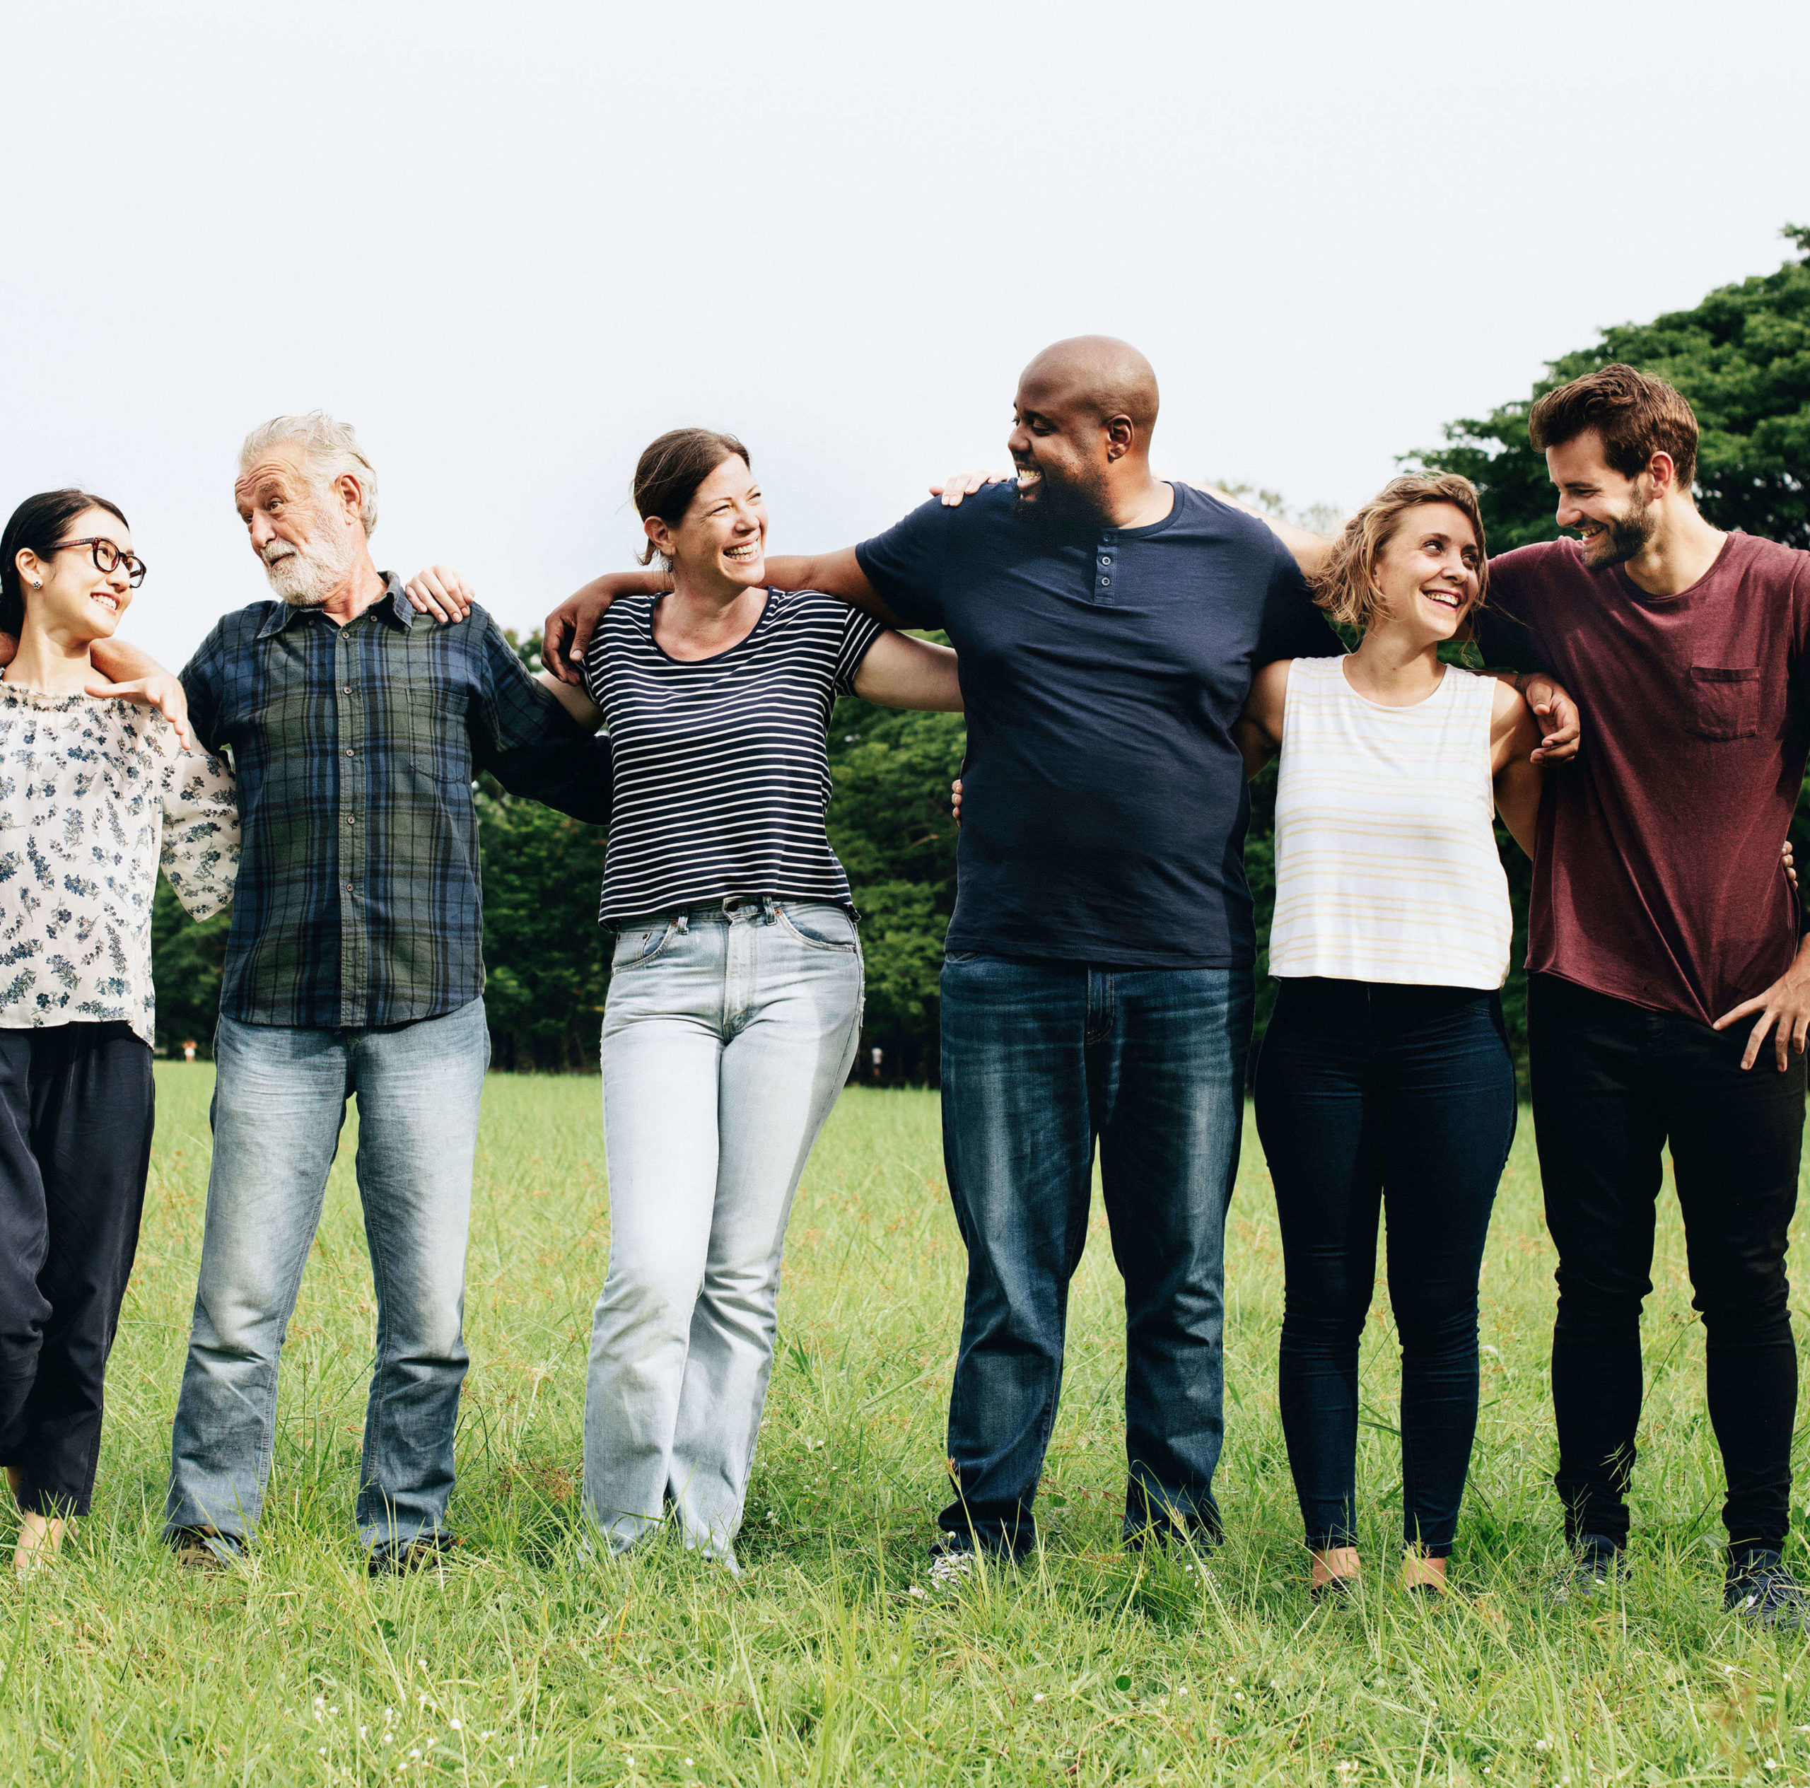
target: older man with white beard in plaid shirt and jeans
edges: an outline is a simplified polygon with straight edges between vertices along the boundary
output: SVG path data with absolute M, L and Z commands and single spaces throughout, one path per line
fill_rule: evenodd
M 214 1169 L 165 1527 L 232 1564 L 270 1475 L 277 1359 L 346 1100 L 376 1281 L 358 1535 L 373 1574 L 438 1558 L 452 1493 L 478 1095 L 489 1064 L 472 778 L 606 818 L 606 756 L 483 610 L 434 626 L 369 550 L 349 427 L 246 438 L 239 516 L 279 601 L 183 671 L 239 776 L 243 858 L 215 1037 Z

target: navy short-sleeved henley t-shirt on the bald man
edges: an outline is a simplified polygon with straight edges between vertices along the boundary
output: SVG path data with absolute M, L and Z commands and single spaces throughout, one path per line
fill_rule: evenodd
M 948 950 L 1122 968 L 1256 954 L 1233 728 L 1262 664 L 1345 648 L 1262 521 L 1173 489 L 1151 527 L 1075 528 L 990 485 L 854 548 L 905 626 L 961 653 Z

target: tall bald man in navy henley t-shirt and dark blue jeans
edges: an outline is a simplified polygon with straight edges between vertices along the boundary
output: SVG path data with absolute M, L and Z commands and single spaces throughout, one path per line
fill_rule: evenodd
M 1014 414 L 1015 483 L 925 503 L 860 547 L 767 559 L 776 588 L 943 628 L 961 655 L 941 1015 L 968 1289 L 939 1582 L 976 1547 L 1035 1544 L 1095 1144 L 1126 1283 L 1124 1535 L 1218 1535 L 1225 1205 L 1256 952 L 1233 728 L 1260 664 L 1341 650 L 1262 521 L 1151 476 L 1157 378 L 1135 347 L 1057 342 Z M 545 662 L 565 675 L 615 595 L 664 586 L 588 585 L 548 617 Z

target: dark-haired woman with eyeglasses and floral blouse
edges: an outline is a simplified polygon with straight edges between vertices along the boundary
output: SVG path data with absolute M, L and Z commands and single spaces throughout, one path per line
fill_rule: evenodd
M 157 869 L 203 919 L 232 898 L 232 771 L 90 651 L 145 579 L 125 516 L 27 498 L 0 534 L 0 1464 L 13 1565 L 87 1515 L 101 1384 L 150 1167 Z

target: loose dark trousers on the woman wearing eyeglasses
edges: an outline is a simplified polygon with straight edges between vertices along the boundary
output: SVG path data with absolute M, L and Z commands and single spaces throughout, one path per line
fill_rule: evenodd
M 89 1513 L 152 1111 L 130 1026 L 0 1030 L 0 1464 L 34 1515 Z

